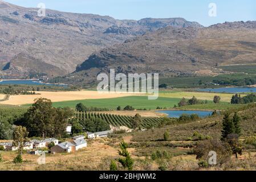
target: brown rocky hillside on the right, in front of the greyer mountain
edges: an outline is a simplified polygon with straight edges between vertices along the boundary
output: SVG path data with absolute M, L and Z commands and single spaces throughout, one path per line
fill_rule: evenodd
M 222 72 L 217 65 L 256 63 L 256 22 L 226 22 L 210 27 L 165 27 L 92 54 L 72 74 L 96 80 L 97 73 L 156 72 L 161 76 Z M 90 78 L 90 79 L 87 79 Z

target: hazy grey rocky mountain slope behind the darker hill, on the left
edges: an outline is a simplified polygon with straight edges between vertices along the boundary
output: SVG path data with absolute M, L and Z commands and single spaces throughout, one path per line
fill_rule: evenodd
M 30 72 L 66 75 L 92 53 L 147 31 L 202 27 L 182 18 L 116 20 L 55 10 L 39 17 L 37 11 L 0 1 L 0 74 L 5 78 L 24 78 Z

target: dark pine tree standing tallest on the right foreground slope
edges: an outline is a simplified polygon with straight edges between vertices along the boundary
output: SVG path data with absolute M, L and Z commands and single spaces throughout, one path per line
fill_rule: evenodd
M 234 123 L 229 118 L 229 113 L 225 113 L 224 118 L 222 120 L 222 135 L 221 139 L 224 140 L 227 138 L 227 135 L 234 133 Z

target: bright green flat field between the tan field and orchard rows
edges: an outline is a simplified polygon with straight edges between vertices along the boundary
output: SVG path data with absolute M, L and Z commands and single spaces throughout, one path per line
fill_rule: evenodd
M 159 97 L 157 100 L 148 100 L 147 96 L 129 96 L 120 98 L 107 98 L 107 99 L 97 99 L 97 100 L 78 100 L 78 101 L 64 101 L 64 102 L 54 102 L 54 107 L 72 107 L 74 108 L 76 104 L 83 103 L 87 107 L 100 107 L 116 109 L 117 106 L 122 108 L 131 105 L 135 109 L 156 109 L 157 106 L 172 108 L 180 102 L 180 98 L 164 98 Z

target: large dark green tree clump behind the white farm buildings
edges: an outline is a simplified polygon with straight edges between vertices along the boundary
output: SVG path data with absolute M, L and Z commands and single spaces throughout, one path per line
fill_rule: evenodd
M 22 125 L 30 131 L 30 137 L 61 137 L 66 133 L 67 119 L 73 111 L 67 107 L 54 108 L 51 100 L 38 98 L 16 125 Z

